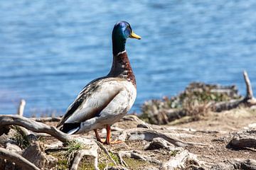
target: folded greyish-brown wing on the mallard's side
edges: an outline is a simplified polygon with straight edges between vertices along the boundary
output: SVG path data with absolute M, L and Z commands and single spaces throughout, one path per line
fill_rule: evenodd
M 110 81 L 109 79 L 97 79 L 85 86 L 57 127 L 64 123 L 80 123 L 99 116 L 100 112 L 122 91 L 120 81 Z

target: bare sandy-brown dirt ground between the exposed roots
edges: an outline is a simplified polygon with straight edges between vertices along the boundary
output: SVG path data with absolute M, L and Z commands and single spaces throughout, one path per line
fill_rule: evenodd
M 185 148 L 188 149 L 188 152 L 196 154 L 198 160 L 206 167 L 231 159 L 256 159 L 256 152 L 247 149 L 235 150 L 228 147 L 228 143 L 233 137 L 233 132 L 256 127 L 256 108 L 237 108 L 221 113 L 211 112 L 193 122 L 186 122 L 186 118 L 183 119 L 176 121 L 176 123 L 171 123 L 172 125 L 151 125 L 151 128 L 156 128 L 161 132 L 170 132 L 179 140 L 207 145 Z M 51 125 L 54 125 L 54 123 L 51 123 Z M 112 127 L 127 130 L 137 128 L 137 125 L 138 123 L 134 120 L 121 120 L 112 125 Z M 120 135 L 120 131 L 122 132 L 122 130 L 112 130 L 112 137 L 114 139 L 117 138 Z M 99 132 L 102 137 L 105 137 L 105 130 L 99 130 Z M 95 138 L 93 132 L 83 136 Z M 46 143 L 53 142 L 51 140 L 45 141 L 47 141 Z M 149 143 L 145 140 L 126 141 L 119 145 L 105 145 L 105 147 L 113 153 L 120 151 L 137 152 L 159 162 L 168 162 L 171 157 L 175 156 L 174 152 L 166 149 L 145 150 Z M 125 161 L 128 165 L 127 169 L 161 169 L 161 166 L 154 164 L 154 162 L 143 162 L 135 159 L 125 159 Z

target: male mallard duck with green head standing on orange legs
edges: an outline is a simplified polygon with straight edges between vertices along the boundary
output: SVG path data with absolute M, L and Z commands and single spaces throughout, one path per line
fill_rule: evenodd
M 113 62 L 110 73 L 91 81 L 82 89 L 58 123 L 57 127 L 62 126 L 61 131 L 79 134 L 94 130 L 97 140 L 103 142 L 97 129 L 106 128 L 104 143 L 120 142 L 110 141 L 110 125 L 132 108 L 137 95 L 134 73 L 125 50 L 127 38 L 141 39 L 132 31 L 129 23 L 116 23 L 112 31 Z

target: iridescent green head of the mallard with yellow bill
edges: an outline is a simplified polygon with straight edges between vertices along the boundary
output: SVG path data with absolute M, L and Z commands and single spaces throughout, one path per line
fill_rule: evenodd
M 127 38 L 141 39 L 139 35 L 133 32 L 131 26 L 126 21 L 116 23 L 112 31 L 113 55 L 117 55 L 125 50 Z

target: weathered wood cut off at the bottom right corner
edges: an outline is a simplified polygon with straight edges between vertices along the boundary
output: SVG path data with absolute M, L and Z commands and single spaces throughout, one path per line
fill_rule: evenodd
M 210 170 L 256 170 L 255 159 L 234 159 L 219 162 L 213 165 Z

